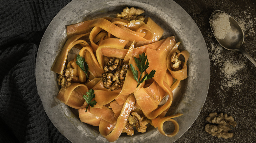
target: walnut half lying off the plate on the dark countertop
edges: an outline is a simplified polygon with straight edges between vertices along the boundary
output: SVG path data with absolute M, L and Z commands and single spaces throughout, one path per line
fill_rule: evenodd
M 228 132 L 229 130 L 231 130 L 230 125 L 233 127 L 236 127 L 237 125 L 232 116 L 227 116 L 227 114 L 223 115 L 223 113 L 217 114 L 216 112 L 213 112 L 210 113 L 208 117 L 205 118 L 205 120 L 214 124 L 218 124 L 205 125 L 204 130 L 212 136 L 217 136 L 218 138 L 223 137 L 225 139 L 234 136 L 233 133 Z

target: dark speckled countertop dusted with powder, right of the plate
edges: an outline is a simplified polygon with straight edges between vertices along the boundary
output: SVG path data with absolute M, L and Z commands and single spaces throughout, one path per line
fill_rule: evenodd
M 255 0 L 174 0 L 193 18 L 203 34 L 210 57 L 210 86 L 202 111 L 193 125 L 176 143 L 255 142 L 256 141 L 256 67 L 237 51 L 221 47 L 212 34 L 209 18 L 214 10 L 232 16 L 244 28 L 245 50 L 256 59 Z M 233 138 L 224 139 L 204 131 L 211 112 L 227 113 L 237 122 Z

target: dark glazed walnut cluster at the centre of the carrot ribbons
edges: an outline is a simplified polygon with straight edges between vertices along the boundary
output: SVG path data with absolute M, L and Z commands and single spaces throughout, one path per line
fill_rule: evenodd
M 103 67 L 103 85 L 105 88 L 115 90 L 123 86 L 126 71 L 129 68 L 127 63 L 122 63 L 117 58 L 111 58 Z

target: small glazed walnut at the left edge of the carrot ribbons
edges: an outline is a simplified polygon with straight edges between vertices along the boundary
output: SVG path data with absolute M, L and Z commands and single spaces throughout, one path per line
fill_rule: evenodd
M 71 85 L 71 80 L 73 78 L 74 75 L 74 71 L 72 68 L 67 68 L 66 70 L 64 70 L 65 72 L 63 72 L 64 75 L 59 75 L 57 78 L 58 81 L 58 85 L 61 86 L 61 88 L 67 88 Z

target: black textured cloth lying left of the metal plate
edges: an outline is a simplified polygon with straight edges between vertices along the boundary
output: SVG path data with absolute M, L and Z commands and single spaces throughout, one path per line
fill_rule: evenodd
M 35 81 L 43 33 L 71 0 L 0 0 L 0 142 L 70 142 L 47 117 Z

